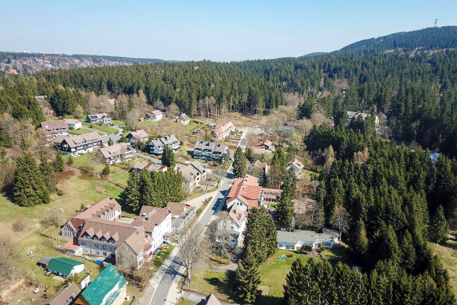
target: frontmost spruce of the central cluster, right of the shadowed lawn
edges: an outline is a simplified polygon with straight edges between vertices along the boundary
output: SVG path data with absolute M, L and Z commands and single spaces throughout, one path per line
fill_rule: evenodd
M 235 272 L 235 295 L 245 303 L 253 303 L 261 292 L 259 284 L 258 263 L 248 248 Z

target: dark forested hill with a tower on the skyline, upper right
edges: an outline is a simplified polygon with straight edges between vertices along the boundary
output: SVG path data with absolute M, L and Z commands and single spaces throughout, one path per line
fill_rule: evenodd
M 428 27 L 417 31 L 364 39 L 335 52 L 363 51 L 364 53 L 374 53 L 399 48 L 413 50 L 420 47 L 426 50 L 457 47 L 457 26 Z

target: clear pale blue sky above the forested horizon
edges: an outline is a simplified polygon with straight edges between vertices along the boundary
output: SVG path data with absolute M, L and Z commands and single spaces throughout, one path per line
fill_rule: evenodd
M 333 51 L 456 25 L 457 1 L 27 1 L 2 3 L 0 50 L 217 61 Z

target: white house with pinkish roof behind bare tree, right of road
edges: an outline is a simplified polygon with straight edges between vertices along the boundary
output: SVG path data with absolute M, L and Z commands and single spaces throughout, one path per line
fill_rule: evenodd
M 215 234 L 216 245 L 221 243 L 221 236 L 223 234 L 225 242 L 238 247 L 243 239 L 244 231 L 246 230 L 247 218 L 245 211 L 243 211 L 239 206 L 232 205 L 227 210 L 227 214 L 230 219 L 221 220 L 217 225 Z

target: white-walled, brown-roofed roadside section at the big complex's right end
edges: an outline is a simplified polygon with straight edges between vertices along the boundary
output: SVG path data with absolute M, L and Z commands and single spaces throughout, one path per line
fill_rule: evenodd
M 165 207 L 143 205 L 140 216 L 135 217 L 130 225 L 136 228 L 143 227 L 144 231 L 152 237 L 151 249 L 145 254 L 149 257 L 156 253 L 160 246 L 173 235 L 171 212 Z

